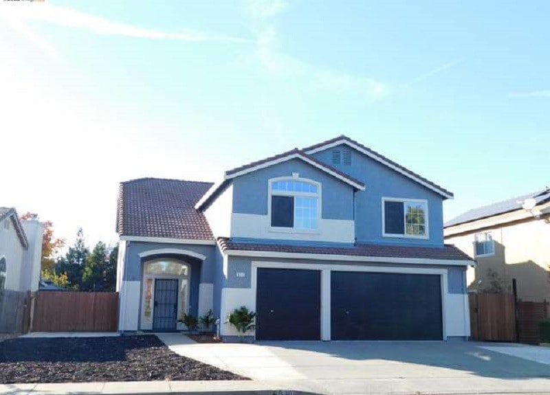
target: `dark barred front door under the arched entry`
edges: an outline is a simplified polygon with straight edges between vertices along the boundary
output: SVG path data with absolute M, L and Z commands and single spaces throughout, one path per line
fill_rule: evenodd
M 155 279 L 153 330 L 176 330 L 177 279 Z

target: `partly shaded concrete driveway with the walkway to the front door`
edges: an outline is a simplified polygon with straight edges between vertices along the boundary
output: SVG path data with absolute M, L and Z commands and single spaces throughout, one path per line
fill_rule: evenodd
M 494 343 L 198 344 L 179 334 L 158 336 L 186 357 L 263 383 L 314 394 L 550 393 L 550 365 L 484 348 Z M 531 346 L 498 345 L 508 352 L 523 347 Z M 547 351 L 550 361 L 550 349 Z

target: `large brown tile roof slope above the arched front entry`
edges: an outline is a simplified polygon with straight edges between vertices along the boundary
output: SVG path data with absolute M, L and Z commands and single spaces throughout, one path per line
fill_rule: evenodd
M 121 236 L 214 240 L 195 203 L 212 183 L 144 178 L 120 183 L 117 226 Z

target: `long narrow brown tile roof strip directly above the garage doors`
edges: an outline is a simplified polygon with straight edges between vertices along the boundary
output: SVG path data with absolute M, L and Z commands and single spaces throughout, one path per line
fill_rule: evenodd
M 346 255 L 373 258 L 418 258 L 437 260 L 467 260 L 472 261 L 463 251 L 454 245 L 444 247 L 413 247 L 402 245 L 375 245 L 358 243 L 353 247 L 320 247 L 312 245 L 288 245 L 272 242 L 242 242 L 230 238 L 218 238 L 222 251 L 269 251 L 287 253 L 316 253 L 327 255 Z

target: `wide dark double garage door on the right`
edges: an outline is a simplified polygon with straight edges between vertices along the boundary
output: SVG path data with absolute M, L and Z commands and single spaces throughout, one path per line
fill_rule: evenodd
M 441 339 L 439 275 L 331 272 L 331 338 Z

